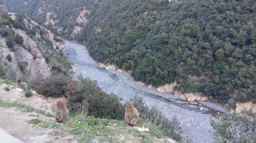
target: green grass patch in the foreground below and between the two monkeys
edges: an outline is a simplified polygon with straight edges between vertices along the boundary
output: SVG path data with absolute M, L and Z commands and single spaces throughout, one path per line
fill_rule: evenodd
M 79 142 L 92 142 L 97 139 L 98 142 L 118 142 L 117 136 L 135 136 L 142 137 L 142 141 L 154 140 L 155 137 L 164 137 L 163 132 L 158 127 L 139 120 L 138 126 L 150 129 L 148 133 L 142 133 L 135 128 L 127 126 L 123 121 L 100 119 L 93 116 L 73 115 L 64 124 L 55 121 L 45 121 L 37 124 L 42 128 L 59 128 L 68 131 L 73 135 L 79 136 Z M 59 136 L 56 133 L 56 136 Z M 149 141 L 152 142 L 152 141 Z

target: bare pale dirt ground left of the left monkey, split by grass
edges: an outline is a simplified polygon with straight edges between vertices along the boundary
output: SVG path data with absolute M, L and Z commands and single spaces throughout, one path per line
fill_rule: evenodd
M 9 87 L 10 91 L 4 91 L 5 87 Z M 58 100 L 66 101 L 65 98 L 49 98 L 34 94 L 28 98 L 23 94 L 22 89 L 13 88 L 12 85 L 0 85 L 0 100 L 5 102 L 22 102 L 23 104 L 33 106 L 37 109 L 53 112 L 55 103 Z M 28 121 L 39 118 L 40 120 L 55 120 L 54 118 L 39 115 L 36 112 L 22 112 L 14 107 L 0 107 L 0 127 L 9 134 L 24 142 L 77 142 L 76 137 L 68 133 L 61 132 L 54 128 L 34 127 Z M 61 123 L 60 123 L 61 124 Z

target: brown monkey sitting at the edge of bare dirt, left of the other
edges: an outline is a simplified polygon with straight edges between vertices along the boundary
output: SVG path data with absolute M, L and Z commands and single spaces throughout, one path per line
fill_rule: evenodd
M 55 118 L 59 123 L 69 118 L 69 109 L 61 101 L 57 102 Z

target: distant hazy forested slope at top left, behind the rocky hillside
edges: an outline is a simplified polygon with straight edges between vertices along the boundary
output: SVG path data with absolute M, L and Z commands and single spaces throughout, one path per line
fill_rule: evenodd
M 58 27 L 62 27 L 61 36 L 69 38 L 74 30 L 76 18 L 83 9 L 92 9 L 97 1 L 94 0 L 1 0 L 10 12 L 23 11 L 34 16 L 37 22 L 44 23 L 49 19 L 54 21 L 54 25 L 47 25 L 52 32 L 57 34 Z M 50 13 L 49 13 L 50 12 Z

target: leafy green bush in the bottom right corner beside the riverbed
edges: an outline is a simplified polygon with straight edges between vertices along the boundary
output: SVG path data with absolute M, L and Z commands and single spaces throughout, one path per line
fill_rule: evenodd
M 255 142 L 256 141 L 256 120 L 250 117 L 239 117 L 224 113 L 221 121 L 210 121 L 211 126 L 216 129 L 224 142 Z

